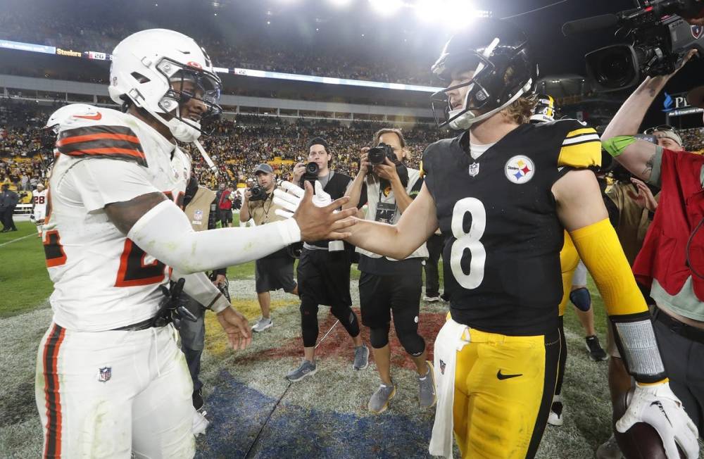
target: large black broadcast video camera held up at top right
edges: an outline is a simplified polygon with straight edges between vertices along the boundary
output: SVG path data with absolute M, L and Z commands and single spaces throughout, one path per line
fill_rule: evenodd
M 603 92 L 631 87 L 645 76 L 669 75 L 684 56 L 704 51 L 704 30 L 682 19 L 704 8 L 700 0 L 643 0 L 639 8 L 570 21 L 562 33 L 598 30 L 616 25 L 616 36 L 631 44 L 615 44 L 586 54 L 586 73 Z M 681 16 L 680 16 L 681 15 Z

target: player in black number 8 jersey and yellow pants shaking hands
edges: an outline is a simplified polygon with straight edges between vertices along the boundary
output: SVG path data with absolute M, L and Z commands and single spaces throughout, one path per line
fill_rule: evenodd
M 608 310 L 637 388 L 622 427 L 652 425 L 669 451 L 698 455 L 696 427 L 670 390 L 648 309 L 596 177 L 601 144 L 577 120 L 529 124 L 537 67 L 527 38 L 475 20 L 433 72 L 439 125 L 462 131 L 423 154 L 425 184 L 396 225 L 358 221 L 348 241 L 406 258 L 440 227 L 451 318 L 435 343 L 438 403 L 430 453 L 532 458 L 559 355 L 560 249 L 569 232 Z M 674 458 L 674 456 L 673 456 Z

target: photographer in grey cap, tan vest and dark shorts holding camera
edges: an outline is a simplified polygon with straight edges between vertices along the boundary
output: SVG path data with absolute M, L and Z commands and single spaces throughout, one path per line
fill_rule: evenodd
M 277 184 L 272 167 L 262 163 L 257 166 L 254 175 L 257 177 L 257 184 L 245 191 L 239 220 L 246 222 L 251 218 L 256 226 L 284 220 L 283 217 L 279 217 L 275 213 L 278 206 L 273 203 L 273 199 Z M 274 325 L 270 315 L 271 295 L 269 292 L 284 289 L 289 294 L 298 295 L 298 286 L 294 281 L 294 258 L 284 248 L 256 260 L 254 267 L 257 300 L 262 310 L 262 316 L 252 329 L 255 332 L 263 332 Z

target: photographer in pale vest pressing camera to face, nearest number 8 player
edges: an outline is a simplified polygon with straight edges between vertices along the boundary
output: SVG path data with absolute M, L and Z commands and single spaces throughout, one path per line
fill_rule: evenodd
M 394 225 L 420 192 L 423 180 L 419 170 L 403 164 L 407 150 L 400 130 L 379 130 L 373 140 L 376 148 L 362 149 L 360 169 L 346 193 L 350 201 L 344 208 L 368 203 L 366 220 Z M 370 329 L 372 352 L 382 380 L 367 408 L 372 413 L 382 413 L 396 394 L 389 362 L 391 312 L 394 313 L 398 341 L 415 363 L 420 406 L 429 408 L 435 404 L 434 375 L 432 364 L 425 360 L 425 340 L 418 334 L 422 264 L 428 257 L 425 244 L 403 260 L 382 257 L 359 248 L 357 251 L 361 254 L 359 301 L 362 324 Z

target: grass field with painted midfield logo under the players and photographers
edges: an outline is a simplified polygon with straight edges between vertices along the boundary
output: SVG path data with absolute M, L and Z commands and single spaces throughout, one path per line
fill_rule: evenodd
M 39 339 L 51 322 L 47 298 L 51 283 L 44 253 L 33 236 L 34 225 L 0 234 L 0 457 L 41 455 L 42 437 L 34 405 L 34 359 Z M 26 237 L 28 236 L 28 237 Z M 24 239 L 22 239 L 24 238 Z M 251 320 L 259 315 L 253 263 L 228 270 L 233 304 Z M 353 278 L 358 277 L 358 272 Z M 591 282 L 591 281 L 590 281 Z M 605 316 L 598 292 L 590 285 L 596 327 L 604 341 Z M 356 281 L 351 282 L 358 308 Z M 301 358 L 300 315 L 293 296 L 272 294 L 275 326 L 255 336 L 246 351 L 233 353 L 213 315 L 206 318 L 206 351 L 202 377 L 208 417 L 205 438 L 198 441 L 203 458 L 425 458 L 433 410 L 417 407 L 417 382 L 410 359 L 392 337 L 394 379 L 398 395 L 391 408 L 370 415 L 365 405 L 377 387 L 374 365 L 351 370 L 351 341 L 320 308 L 318 375 L 290 384 L 283 375 Z M 422 304 L 420 330 L 429 349 L 441 326 L 446 303 Z M 591 458 L 610 434 L 606 363 L 586 356 L 576 315 L 565 317 L 570 355 L 563 394 L 565 425 L 549 427 L 539 458 Z M 368 334 L 363 332 L 368 343 Z

